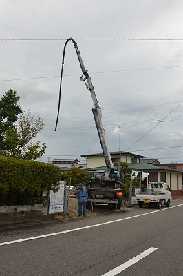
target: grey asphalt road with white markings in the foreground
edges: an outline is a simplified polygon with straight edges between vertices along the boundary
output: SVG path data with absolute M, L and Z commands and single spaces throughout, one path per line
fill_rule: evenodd
M 1 276 L 183 275 L 183 200 L 0 231 Z

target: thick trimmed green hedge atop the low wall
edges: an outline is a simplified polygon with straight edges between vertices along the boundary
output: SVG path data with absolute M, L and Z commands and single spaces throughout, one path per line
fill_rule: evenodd
M 56 191 L 60 180 L 57 166 L 0 156 L 0 205 L 38 204 L 43 190 Z

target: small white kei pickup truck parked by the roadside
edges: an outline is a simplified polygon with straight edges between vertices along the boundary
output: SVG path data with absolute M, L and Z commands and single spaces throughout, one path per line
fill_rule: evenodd
M 162 204 L 169 207 L 172 201 L 171 188 L 165 182 L 149 182 L 148 189 L 136 194 L 136 201 L 140 208 L 143 205 L 155 205 L 160 209 Z

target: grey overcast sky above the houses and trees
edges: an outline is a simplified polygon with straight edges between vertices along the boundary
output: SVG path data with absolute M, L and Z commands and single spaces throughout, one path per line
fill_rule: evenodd
M 1 97 L 43 117 L 41 161 L 102 152 L 90 92 L 67 44 L 56 132 L 63 46 L 78 43 L 103 108 L 110 151 L 183 162 L 182 0 L 0 0 Z

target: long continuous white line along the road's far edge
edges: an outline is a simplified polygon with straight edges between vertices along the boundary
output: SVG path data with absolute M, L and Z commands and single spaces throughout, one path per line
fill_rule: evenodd
M 179 205 L 176 205 L 176 206 L 171 206 L 169 208 L 155 210 L 155 211 L 152 211 L 152 212 L 148 212 L 148 213 L 144 213 L 144 214 L 140 214 L 140 215 L 135 215 L 135 216 L 132 216 L 132 217 L 125 217 L 124 219 L 116 219 L 116 220 L 113 220 L 113 221 L 103 222 L 101 224 L 94 224 L 94 225 L 90 225 L 90 226 L 84 226 L 84 227 L 80 227 L 80 228 L 65 230 L 65 231 L 56 232 L 56 233 L 45 234 L 45 235 L 41 235 L 41 236 L 27 237 L 25 239 L 16 239 L 16 240 L 10 241 L 10 242 L 1 242 L 0 246 L 5 246 L 7 244 L 16 244 L 17 242 L 26 242 L 26 241 L 30 241 L 32 239 L 41 239 L 42 237 L 51 237 L 51 236 L 55 236 L 55 235 L 61 235 L 61 234 L 65 234 L 65 233 L 70 233 L 70 232 L 75 232 L 75 231 L 78 231 L 78 230 L 87 229 L 87 228 L 98 227 L 98 226 L 102 226 L 102 225 L 105 225 L 105 224 L 114 224 L 115 222 L 118 222 L 118 221 L 122 221 L 122 220 L 126 220 L 126 219 L 133 219 L 135 217 L 142 217 L 143 215 L 151 215 L 153 213 L 161 212 L 161 211 L 164 211 L 164 210 L 169 210 L 171 208 L 179 207 L 179 206 L 182 206 L 182 205 L 183 204 L 179 204 Z

